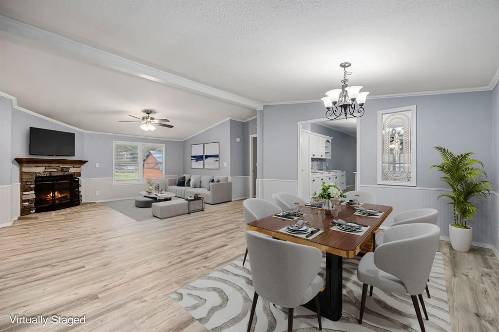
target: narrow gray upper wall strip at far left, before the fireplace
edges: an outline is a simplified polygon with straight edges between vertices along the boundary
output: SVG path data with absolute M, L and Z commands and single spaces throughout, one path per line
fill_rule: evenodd
M 12 129 L 12 100 L 0 96 L 0 185 L 17 183 L 11 181 L 11 129 Z

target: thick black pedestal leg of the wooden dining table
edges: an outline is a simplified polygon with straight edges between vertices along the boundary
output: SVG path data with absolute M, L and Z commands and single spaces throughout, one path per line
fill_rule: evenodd
M 320 314 L 331 321 L 339 321 L 343 310 L 343 257 L 326 253 L 326 287 L 319 294 Z M 315 311 L 312 299 L 304 305 Z

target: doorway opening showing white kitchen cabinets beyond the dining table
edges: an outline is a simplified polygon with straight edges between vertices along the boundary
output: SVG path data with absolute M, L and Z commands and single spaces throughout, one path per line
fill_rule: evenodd
M 298 122 L 298 195 L 309 201 L 322 182 L 355 190 L 359 178 L 359 119 Z

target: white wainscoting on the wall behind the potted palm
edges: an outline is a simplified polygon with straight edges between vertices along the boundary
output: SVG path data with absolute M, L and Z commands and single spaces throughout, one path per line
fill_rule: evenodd
M 399 212 L 431 207 L 439 211 L 437 224 L 440 227 L 441 236 L 445 239 L 449 237 L 449 224 L 453 220 L 452 206 L 448 204 L 447 198 L 438 199 L 438 196 L 442 193 L 448 193 L 450 190 L 362 184 L 359 187 L 362 191 L 376 195 L 378 204 L 393 207 L 393 212 L 385 220 L 383 226 L 390 226 L 393 223 L 393 216 Z M 492 243 L 492 197 L 477 199 L 475 203 L 479 214 L 469 222 L 469 225 L 473 227 L 473 241 L 476 245 L 490 248 L 490 243 Z

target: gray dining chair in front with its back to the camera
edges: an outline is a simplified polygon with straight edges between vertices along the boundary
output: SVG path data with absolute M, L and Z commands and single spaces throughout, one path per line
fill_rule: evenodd
M 322 330 L 318 296 L 324 287 L 324 279 L 319 275 L 322 252 L 311 246 L 272 239 L 253 231 L 246 232 L 246 242 L 251 256 L 254 288 L 248 332 L 258 297 L 288 308 L 288 332 L 293 331 L 294 308 L 315 298 L 317 321 L 319 330 Z

